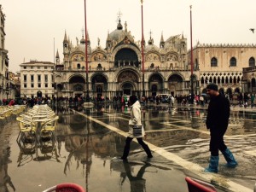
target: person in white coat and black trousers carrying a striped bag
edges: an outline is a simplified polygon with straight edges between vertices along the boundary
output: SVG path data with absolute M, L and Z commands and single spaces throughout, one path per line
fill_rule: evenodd
M 127 160 L 130 152 L 130 144 L 133 138 L 137 138 L 137 142 L 143 147 L 148 158 L 152 158 L 152 154 L 148 145 L 143 142 L 145 131 L 142 125 L 141 105 L 138 102 L 137 96 L 130 96 L 129 102 L 131 104 L 131 119 L 129 120 L 128 137 L 125 139 L 125 148 L 122 160 Z

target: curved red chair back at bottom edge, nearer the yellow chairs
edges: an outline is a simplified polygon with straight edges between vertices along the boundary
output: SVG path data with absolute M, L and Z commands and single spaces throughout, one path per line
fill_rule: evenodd
M 57 184 L 49 189 L 45 189 L 43 192 L 85 192 L 85 190 L 76 183 L 61 183 Z

